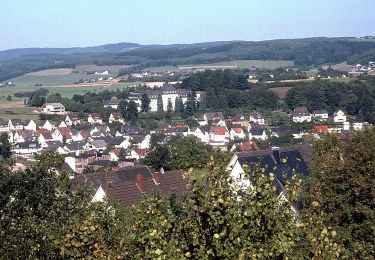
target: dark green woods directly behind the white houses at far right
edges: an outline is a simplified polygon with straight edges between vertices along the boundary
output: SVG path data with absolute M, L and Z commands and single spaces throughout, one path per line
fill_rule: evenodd
M 314 81 L 288 91 L 285 102 L 290 109 L 306 106 L 310 111 L 325 109 L 333 113 L 343 109 L 358 120 L 375 122 L 375 84 Z

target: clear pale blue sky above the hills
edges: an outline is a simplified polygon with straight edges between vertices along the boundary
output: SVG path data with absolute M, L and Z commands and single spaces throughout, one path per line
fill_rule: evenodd
M 1 0 L 0 50 L 375 35 L 375 0 Z

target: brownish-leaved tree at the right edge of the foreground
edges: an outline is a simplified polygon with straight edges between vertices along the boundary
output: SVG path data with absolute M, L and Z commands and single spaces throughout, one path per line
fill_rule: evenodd
M 347 259 L 375 254 L 375 130 L 340 139 L 328 136 L 314 149 L 306 183 L 306 209 L 337 230 Z

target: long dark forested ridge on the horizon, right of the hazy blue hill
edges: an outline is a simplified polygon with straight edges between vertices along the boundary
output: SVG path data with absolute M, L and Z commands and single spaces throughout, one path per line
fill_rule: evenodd
M 147 66 L 202 64 L 228 60 L 293 60 L 299 66 L 345 61 L 375 48 L 375 42 L 352 38 L 306 38 L 260 42 L 232 42 L 219 46 L 175 46 L 120 53 L 116 60 Z

